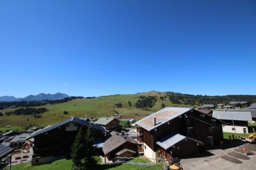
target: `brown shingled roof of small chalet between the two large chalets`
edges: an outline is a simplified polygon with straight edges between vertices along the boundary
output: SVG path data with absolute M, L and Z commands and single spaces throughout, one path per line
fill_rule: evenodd
M 130 143 L 131 145 L 138 145 L 138 142 L 131 137 L 125 137 L 123 135 L 113 135 L 105 141 L 104 146 L 102 147 L 102 151 L 106 155 L 126 142 Z

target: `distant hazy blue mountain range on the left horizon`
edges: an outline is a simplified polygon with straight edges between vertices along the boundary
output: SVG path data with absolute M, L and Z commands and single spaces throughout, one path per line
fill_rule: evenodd
M 40 100 L 57 100 L 64 99 L 65 97 L 69 97 L 69 95 L 56 93 L 56 94 L 38 94 L 38 95 L 29 95 L 26 97 L 16 98 L 14 96 L 2 96 L 0 97 L 0 101 L 40 101 Z

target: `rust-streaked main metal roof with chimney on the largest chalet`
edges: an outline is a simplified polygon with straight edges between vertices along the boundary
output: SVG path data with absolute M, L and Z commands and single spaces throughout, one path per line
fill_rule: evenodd
M 158 112 L 151 114 L 142 120 L 135 122 L 136 125 L 141 126 L 143 129 L 147 131 L 151 131 L 157 128 L 160 125 L 165 124 L 166 122 L 172 120 L 175 117 L 180 116 L 188 111 L 192 111 L 191 108 L 178 108 L 178 107 L 167 107 Z M 154 125 L 153 117 L 156 118 L 156 125 Z

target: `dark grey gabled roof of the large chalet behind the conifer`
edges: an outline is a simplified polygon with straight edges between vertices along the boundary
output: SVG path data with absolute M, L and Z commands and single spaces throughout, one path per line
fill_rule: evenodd
M 44 129 L 39 130 L 39 131 L 36 131 L 35 134 L 31 135 L 31 136 L 30 136 L 29 138 L 27 138 L 27 139 L 34 138 L 35 136 L 37 136 L 37 135 L 39 135 L 39 134 L 46 133 L 47 131 L 50 131 L 50 130 L 53 130 L 53 129 L 55 129 L 55 128 L 58 128 L 59 126 L 68 124 L 69 122 L 75 122 L 76 124 L 79 124 L 79 125 L 90 126 L 91 128 L 96 129 L 96 130 L 108 132 L 108 131 L 107 131 L 106 129 L 104 129 L 101 125 L 94 124 L 93 122 L 89 122 L 89 121 L 82 120 L 81 118 L 71 117 L 71 118 L 69 118 L 69 119 L 67 119 L 67 120 L 64 120 L 64 121 L 60 122 L 59 124 L 55 124 L 55 125 L 52 125 L 52 126 L 48 126 L 47 128 L 44 128 Z

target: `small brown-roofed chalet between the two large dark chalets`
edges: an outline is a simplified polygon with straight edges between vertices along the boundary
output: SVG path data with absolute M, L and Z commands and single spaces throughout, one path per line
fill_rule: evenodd
M 113 134 L 102 147 L 102 151 L 105 154 L 106 159 L 113 160 L 115 157 L 127 157 L 135 156 L 138 151 L 138 142 L 131 137 L 124 135 Z

